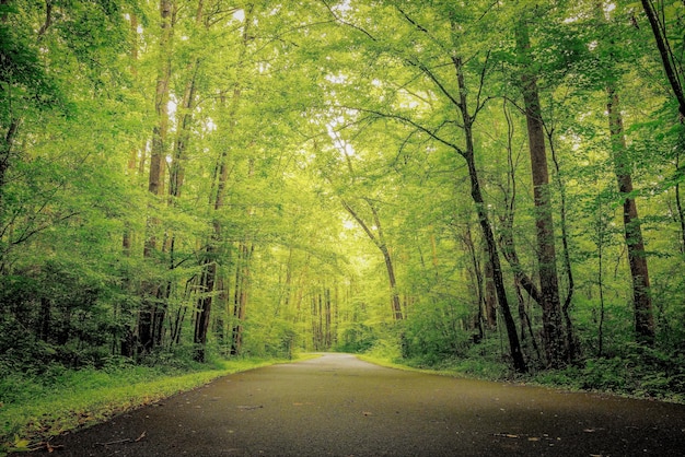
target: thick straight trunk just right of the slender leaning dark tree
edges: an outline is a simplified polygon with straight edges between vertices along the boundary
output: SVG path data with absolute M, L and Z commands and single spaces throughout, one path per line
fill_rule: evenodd
M 548 366 L 559 367 L 567 361 L 568 348 L 566 347 L 564 325 L 561 324 L 561 303 L 559 300 L 545 132 L 536 77 L 527 65 L 530 47 L 527 26 L 520 22 L 516 27 L 516 48 L 523 61 L 521 83 L 525 104 L 529 149 L 531 152 L 539 292 L 543 307 L 543 339 Z

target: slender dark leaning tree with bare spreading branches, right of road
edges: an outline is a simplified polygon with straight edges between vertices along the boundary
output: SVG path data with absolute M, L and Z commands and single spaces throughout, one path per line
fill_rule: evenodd
M 392 3 L 392 2 L 391 2 Z M 428 82 L 430 84 L 430 89 L 423 85 L 416 91 L 430 91 L 431 98 L 433 98 L 432 94 L 442 98 L 440 99 L 445 104 L 444 110 L 438 112 L 434 114 L 439 116 L 450 116 L 446 113 L 455 109 L 460 114 L 460 121 L 455 122 L 451 118 L 442 118 L 442 124 L 438 120 L 437 127 L 430 126 L 430 124 L 423 124 L 422 119 L 417 120 L 409 113 L 405 113 L 400 107 L 387 107 L 387 108 L 374 108 L 360 106 L 357 104 L 353 106 L 355 109 L 380 119 L 393 119 L 400 124 L 406 125 L 408 128 L 413 129 L 414 132 L 410 134 L 421 133 L 432 139 L 437 144 L 442 147 L 446 147 L 449 150 L 455 152 L 466 162 L 466 167 L 468 172 L 468 179 L 471 183 L 471 197 L 475 204 L 476 213 L 478 215 L 478 222 L 483 231 L 484 239 L 486 241 L 486 245 L 488 247 L 488 257 L 489 261 L 492 266 L 492 274 L 497 289 L 497 297 L 500 306 L 500 310 L 504 318 L 504 324 L 507 328 L 507 335 L 509 337 L 509 345 L 510 345 L 510 355 L 513 360 L 513 364 L 516 371 L 525 372 L 525 361 L 523 358 L 523 353 L 521 351 L 519 337 L 516 333 L 515 323 L 513 317 L 511 316 L 511 312 L 509 308 L 509 303 L 507 298 L 507 293 L 504 290 L 502 269 L 499 260 L 498 248 L 495 242 L 495 235 L 492 232 L 491 223 L 489 215 L 487 213 L 487 207 L 485 199 L 483 197 L 483 191 L 480 188 L 480 180 L 478 178 L 478 171 L 475 163 L 475 143 L 474 143 L 474 124 L 477 118 L 478 112 L 483 108 L 483 104 L 485 103 L 481 98 L 481 91 L 484 84 L 484 77 L 487 72 L 488 65 L 488 56 L 489 54 L 485 52 L 484 57 L 479 60 L 480 69 L 479 69 L 479 83 L 480 86 L 474 92 L 466 86 L 466 78 L 465 78 L 465 63 L 464 58 L 461 56 L 461 48 L 464 47 L 463 39 L 460 37 L 458 27 L 461 25 L 460 21 L 457 21 L 457 10 L 452 7 L 444 7 L 444 10 L 437 9 L 432 11 L 436 15 L 434 17 L 439 17 L 442 22 L 442 25 L 446 25 L 451 32 L 446 36 L 436 36 L 432 35 L 431 32 L 426 27 L 426 25 L 419 23 L 419 21 L 410 14 L 410 12 L 405 11 L 403 7 L 398 4 L 391 4 L 385 7 L 385 11 L 388 14 L 393 14 L 395 17 L 399 19 L 404 22 L 400 26 L 403 32 L 406 33 L 405 39 L 408 40 L 409 37 L 411 39 L 420 39 L 421 44 L 425 46 L 431 47 L 430 54 L 425 54 L 428 58 L 433 58 L 433 60 L 423 60 L 422 56 L 418 52 L 415 52 L 411 48 L 395 48 L 393 38 L 390 36 L 387 39 L 387 44 L 383 49 L 392 59 L 395 61 L 400 61 L 405 66 L 406 69 L 410 72 L 410 80 L 418 80 L 421 83 Z M 411 11 L 414 13 L 419 14 L 416 10 Z M 332 10 L 332 14 L 336 16 L 336 19 L 342 24 L 349 23 L 337 15 L 335 11 Z M 386 24 L 382 24 L 379 21 L 375 26 L 381 28 Z M 437 24 L 432 24 L 437 25 Z M 397 27 L 398 25 L 395 24 Z M 405 28 L 406 27 L 406 28 Z M 355 30 L 357 32 L 361 31 L 362 34 L 373 43 L 374 46 L 383 43 L 380 36 L 375 36 L 373 31 L 367 31 L 361 27 L 356 26 Z M 386 31 L 383 31 L 386 32 Z M 436 57 L 433 57 L 436 56 Z M 473 59 L 472 59 L 473 60 Z M 449 66 L 449 67 L 448 67 Z M 441 68 L 450 68 L 453 72 L 453 80 L 448 84 L 448 80 L 443 72 L 438 72 L 433 69 Z M 392 77 L 391 77 L 392 78 Z M 397 86 L 402 87 L 402 83 L 397 83 Z M 454 90 L 451 87 L 455 86 Z M 426 103 L 420 96 L 417 96 L 417 92 L 407 91 L 406 92 L 409 97 L 414 97 L 418 103 Z M 477 94 L 477 98 L 475 102 L 476 107 L 474 108 L 474 113 L 469 112 L 468 107 L 468 94 L 475 93 Z M 397 94 L 405 94 L 405 91 L 397 91 Z M 402 106 L 400 103 L 398 103 Z M 429 105 L 430 106 L 430 105 Z M 448 108 L 449 106 L 449 108 Z M 390 108 L 390 109 L 388 109 Z M 432 113 L 428 113 L 431 115 Z M 450 113 L 451 114 L 451 113 Z M 456 125 L 461 130 L 461 134 L 463 136 L 464 145 L 458 145 L 456 142 L 452 141 L 449 133 L 443 132 L 441 129 L 444 126 Z

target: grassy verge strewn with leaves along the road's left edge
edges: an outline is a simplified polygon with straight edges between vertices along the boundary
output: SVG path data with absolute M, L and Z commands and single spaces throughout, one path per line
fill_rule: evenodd
M 315 355 L 304 354 L 303 360 Z M 278 359 L 219 361 L 188 373 L 147 366 L 61 371 L 40 378 L 3 379 L 0 457 L 47 447 L 51 436 L 202 386 L 218 377 L 276 363 Z

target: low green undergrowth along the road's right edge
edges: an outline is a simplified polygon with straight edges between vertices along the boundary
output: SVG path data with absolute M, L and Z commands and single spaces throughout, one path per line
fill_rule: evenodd
M 634 398 L 685 403 L 685 354 L 626 343 L 612 355 L 589 356 L 559 370 L 538 367 L 519 374 L 501 350 L 501 339 L 491 335 L 463 355 L 433 353 L 405 358 L 399 338 L 376 339 L 362 360 L 399 370 L 418 370 L 446 376 L 536 384 L 577 391 L 599 391 Z

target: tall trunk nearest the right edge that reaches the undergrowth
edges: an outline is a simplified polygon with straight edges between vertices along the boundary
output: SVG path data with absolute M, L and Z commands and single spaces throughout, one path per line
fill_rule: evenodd
M 635 331 L 638 341 L 651 344 L 654 342 L 654 319 L 650 295 L 649 269 L 647 253 L 642 239 L 642 228 L 638 218 L 638 209 L 632 197 L 632 164 L 626 152 L 626 139 L 623 128 L 623 116 L 618 94 L 611 85 L 606 90 L 608 101 L 608 125 L 612 137 L 614 171 L 618 181 L 618 191 L 623 199 L 624 233 L 632 279 L 632 303 L 635 306 Z

